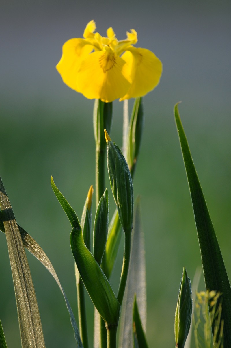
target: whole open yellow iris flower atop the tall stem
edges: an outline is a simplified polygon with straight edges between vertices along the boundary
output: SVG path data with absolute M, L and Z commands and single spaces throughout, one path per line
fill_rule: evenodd
M 90 21 L 84 39 L 70 39 L 63 45 L 56 69 L 67 86 L 88 99 L 111 102 L 141 97 L 158 85 L 162 63 L 148 49 L 133 46 L 134 29 L 121 41 L 111 27 L 107 37 L 95 30 L 95 22 Z

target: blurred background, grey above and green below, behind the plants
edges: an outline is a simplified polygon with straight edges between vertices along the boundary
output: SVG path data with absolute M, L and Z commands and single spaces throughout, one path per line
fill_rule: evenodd
M 74 313 L 76 291 L 70 224 L 51 187 L 81 216 L 95 183 L 92 109 L 55 69 L 63 43 L 82 37 L 94 19 L 105 35 L 138 33 L 137 47 L 163 63 L 160 85 L 144 98 L 145 126 L 134 178 L 142 196 L 150 347 L 175 347 L 174 315 L 186 267 L 201 264 L 196 228 L 173 118 L 179 110 L 229 277 L 231 277 L 230 1 L 3 0 L 1 30 L 0 175 L 17 222 L 45 250 Z M 133 101 L 129 102 L 132 109 Z M 122 141 L 122 103 L 114 102 L 111 138 Z M 107 180 L 107 187 L 110 187 Z M 114 201 L 110 196 L 110 212 Z M 93 212 L 95 211 L 95 206 Z M 10 347 L 20 347 L 6 238 L 0 236 L 0 318 Z M 120 255 L 123 246 L 120 247 Z M 75 347 L 64 299 L 47 270 L 29 253 L 47 347 Z M 113 273 L 117 291 L 121 257 Z M 204 290 L 203 279 L 200 290 Z M 87 300 L 92 345 L 92 305 Z

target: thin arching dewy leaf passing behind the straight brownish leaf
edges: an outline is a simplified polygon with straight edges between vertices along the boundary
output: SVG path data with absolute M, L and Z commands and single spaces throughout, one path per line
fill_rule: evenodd
M 18 225 L 18 228 L 19 228 L 19 232 L 20 232 L 21 237 L 22 237 L 24 247 L 28 251 L 30 251 L 30 253 L 32 255 L 34 255 L 35 258 L 37 258 L 43 264 L 43 266 L 46 267 L 46 269 L 50 272 L 50 274 L 53 276 L 56 283 L 58 284 L 58 286 L 59 286 L 59 288 L 64 296 L 66 306 L 67 306 L 67 309 L 68 309 L 69 314 L 70 314 L 70 319 L 71 319 L 71 324 L 72 324 L 72 327 L 74 330 L 75 339 L 78 343 L 78 347 L 82 348 L 83 346 L 82 346 L 82 342 L 81 342 L 80 335 L 79 335 L 79 330 L 78 330 L 77 323 L 76 323 L 75 318 L 74 318 L 73 311 L 71 309 L 69 301 L 67 300 L 66 294 L 63 290 L 63 287 L 62 287 L 61 283 L 59 282 L 59 279 L 58 279 L 58 276 L 55 272 L 54 267 L 52 266 L 46 253 L 42 250 L 41 246 L 36 242 L 36 240 L 34 240 L 31 237 L 31 235 L 29 235 L 29 233 L 27 233 L 21 226 Z M 0 230 L 5 233 L 2 212 L 0 212 Z

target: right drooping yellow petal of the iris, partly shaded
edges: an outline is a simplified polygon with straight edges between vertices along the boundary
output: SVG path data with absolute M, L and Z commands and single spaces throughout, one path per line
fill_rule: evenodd
M 158 85 L 162 63 L 150 50 L 130 46 L 121 58 L 126 61 L 125 68 L 132 79 L 130 89 L 121 100 L 142 97 Z

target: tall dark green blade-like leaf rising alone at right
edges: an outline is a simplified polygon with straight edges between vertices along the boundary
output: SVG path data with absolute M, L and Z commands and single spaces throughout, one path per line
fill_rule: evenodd
M 180 138 L 189 190 L 197 227 L 197 235 L 200 245 L 202 267 L 207 290 L 220 291 L 222 293 L 222 314 L 224 319 L 224 348 L 231 347 L 231 288 L 220 246 L 217 241 L 212 220 L 210 218 L 205 197 L 193 164 L 189 145 L 184 133 L 178 112 L 178 104 L 175 105 L 175 120 Z M 212 328 L 214 329 L 214 327 Z

